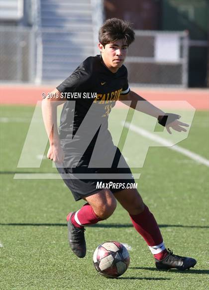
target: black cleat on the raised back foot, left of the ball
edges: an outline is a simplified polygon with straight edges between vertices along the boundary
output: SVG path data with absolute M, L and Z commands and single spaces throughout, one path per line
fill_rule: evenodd
M 87 252 L 84 237 L 85 228 L 78 228 L 72 224 L 71 219 L 73 214 L 75 214 L 75 212 L 71 212 L 68 215 L 69 219 L 67 217 L 68 240 L 73 253 L 79 258 L 84 258 Z

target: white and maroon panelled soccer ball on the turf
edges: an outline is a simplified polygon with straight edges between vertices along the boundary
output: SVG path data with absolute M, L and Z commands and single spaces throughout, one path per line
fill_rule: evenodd
M 109 241 L 97 247 L 93 261 L 100 275 L 106 278 L 116 278 L 125 273 L 130 257 L 122 244 Z

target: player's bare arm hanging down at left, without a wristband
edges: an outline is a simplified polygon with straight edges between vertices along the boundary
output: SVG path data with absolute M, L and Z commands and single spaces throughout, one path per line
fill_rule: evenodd
M 57 89 L 54 89 L 42 100 L 43 121 L 50 144 L 47 158 L 57 163 L 62 163 L 64 159 L 64 152 L 60 145 L 57 128 L 57 106 L 63 104 L 65 101 L 61 98 L 61 93 Z

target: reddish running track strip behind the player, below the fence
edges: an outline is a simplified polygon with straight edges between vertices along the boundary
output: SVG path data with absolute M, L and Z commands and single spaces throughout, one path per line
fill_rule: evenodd
M 49 86 L 2 85 L 0 87 L 0 104 L 35 105 L 42 100 L 41 94 L 51 92 Z M 138 89 L 140 96 L 149 101 L 187 101 L 197 110 L 209 110 L 209 90 L 207 89 Z M 117 102 L 117 107 L 123 106 Z

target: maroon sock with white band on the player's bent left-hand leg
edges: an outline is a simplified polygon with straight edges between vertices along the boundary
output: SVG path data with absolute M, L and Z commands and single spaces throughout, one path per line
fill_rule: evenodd
M 69 220 L 68 217 L 67 220 Z M 94 212 L 93 207 L 89 203 L 86 203 L 80 210 L 73 214 L 71 222 L 74 226 L 83 228 L 84 226 L 96 224 L 101 220 Z

